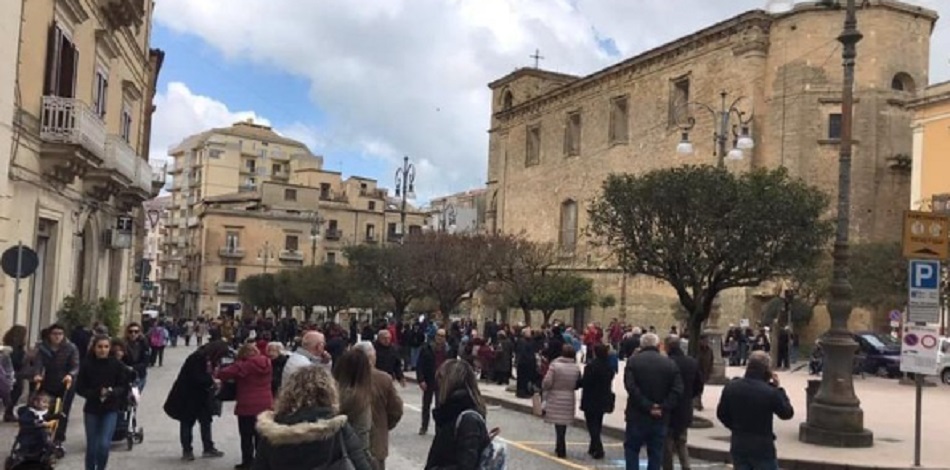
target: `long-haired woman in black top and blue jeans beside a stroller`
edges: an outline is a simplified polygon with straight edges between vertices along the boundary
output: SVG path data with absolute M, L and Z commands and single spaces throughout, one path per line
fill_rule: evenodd
M 112 340 L 96 335 L 79 368 L 76 393 L 86 399 L 86 470 L 105 470 L 122 397 L 129 391 L 125 364 L 112 356 Z

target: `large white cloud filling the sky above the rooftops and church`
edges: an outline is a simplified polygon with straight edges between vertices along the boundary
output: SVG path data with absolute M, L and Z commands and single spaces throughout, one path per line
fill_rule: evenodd
M 946 0 L 915 2 L 947 13 Z M 486 83 L 528 65 L 536 47 L 546 57 L 544 68 L 586 74 L 617 60 L 598 47 L 598 37 L 612 38 L 628 57 L 766 3 L 162 0 L 156 19 L 203 38 L 228 57 L 306 78 L 328 124 L 323 132 L 297 126 L 288 135 L 327 151 L 372 155 L 393 167 L 410 155 L 418 163 L 419 192 L 428 195 L 483 184 Z M 935 54 L 950 45 L 944 31 L 934 35 Z M 948 72 L 946 58 L 935 59 L 934 78 Z M 236 114 L 223 105 L 209 108 L 229 120 Z M 167 123 L 177 126 L 169 134 L 213 116 L 190 117 Z

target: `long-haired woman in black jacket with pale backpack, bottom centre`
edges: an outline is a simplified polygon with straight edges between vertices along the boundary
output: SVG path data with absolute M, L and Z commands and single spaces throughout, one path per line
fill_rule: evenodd
M 435 438 L 425 468 L 475 470 L 482 451 L 491 444 L 475 370 L 465 361 L 450 359 L 436 377 L 439 405 L 432 410 Z

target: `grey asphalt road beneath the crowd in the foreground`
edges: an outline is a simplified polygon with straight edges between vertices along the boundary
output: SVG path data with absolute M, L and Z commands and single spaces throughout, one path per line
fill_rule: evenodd
M 165 365 L 153 368 L 149 372 L 148 384 L 143 395 L 139 411 L 140 424 L 145 428 L 145 442 L 133 450 L 125 449 L 124 443 L 113 447 L 109 468 L 116 470 L 142 469 L 165 470 L 195 468 L 202 470 L 231 469 L 240 461 L 237 420 L 232 408 L 226 405 L 224 416 L 214 421 L 214 440 L 219 449 L 225 452 L 220 459 L 198 459 L 192 463 L 183 463 L 181 447 L 178 443 L 178 423 L 165 416 L 162 404 L 171 388 L 178 368 L 185 356 L 194 348 L 167 348 Z M 432 443 L 432 431 L 427 436 L 419 436 L 421 421 L 420 404 L 422 401 L 418 387 L 407 384 L 399 388 L 405 402 L 405 414 L 399 426 L 391 433 L 390 457 L 386 461 L 391 470 L 422 469 Z M 81 470 L 85 437 L 82 428 L 82 399 L 76 399 L 71 414 L 72 422 L 66 441 L 66 457 L 56 466 L 61 470 Z M 488 411 L 489 427 L 500 427 L 501 438 L 507 443 L 509 468 L 512 470 L 534 469 L 622 469 L 622 443 L 606 439 L 606 459 L 594 461 L 587 456 L 588 436 L 579 428 L 568 430 L 568 459 L 554 457 L 554 428 L 544 424 L 541 419 L 515 411 L 491 407 Z M 15 424 L 0 425 L 0 446 L 9 446 L 16 434 Z M 200 450 L 198 431 L 195 429 L 195 445 Z M 3 452 L 6 457 L 6 449 Z M 641 462 L 645 467 L 645 462 Z M 721 464 L 694 462 L 695 468 L 725 468 Z

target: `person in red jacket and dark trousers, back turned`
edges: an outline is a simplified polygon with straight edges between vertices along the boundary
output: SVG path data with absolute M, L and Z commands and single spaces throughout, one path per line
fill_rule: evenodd
M 238 417 L 238 432 L 241 435 L 241 463 L 237 470 L 250 469 L 254 464 L 257 448 L 257 415 L 274 406 L 271 392 L 270 358 L 261 354 L 257 346 L 248 343 L 238 350 L 237 361 L 218 371 L 219 380 L 233 380 L 237 385 L 237 400 L 234 414 Z

